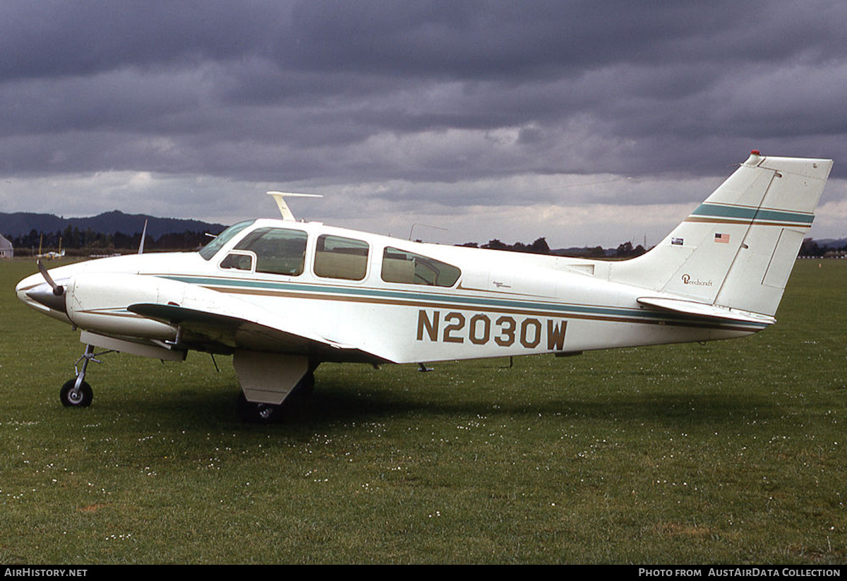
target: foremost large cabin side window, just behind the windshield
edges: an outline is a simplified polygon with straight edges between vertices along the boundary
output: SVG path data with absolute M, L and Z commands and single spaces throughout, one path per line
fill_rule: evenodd
M 257 273 L 296 276 L 303 273 L 306 240 L 306 232 L 302 230 L 257 228 L 236 244 L 235 250 L 256 255 Z

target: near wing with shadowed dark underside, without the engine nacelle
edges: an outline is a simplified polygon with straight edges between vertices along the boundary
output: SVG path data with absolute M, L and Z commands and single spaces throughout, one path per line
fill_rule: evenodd
M 141 317 L 178 326 L 180 343 L 202 351 L 247 349 L 315 356 L 329 361 L 389 362 L 385 357 L 356 346 L 327 340 L 291 325 L 262 322 L 248 313 L 241 317 L 158 303 L 136 303 L 127 310 Z

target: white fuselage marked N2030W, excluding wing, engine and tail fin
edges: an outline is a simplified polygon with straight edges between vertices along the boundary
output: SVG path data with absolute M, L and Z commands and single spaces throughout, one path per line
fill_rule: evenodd
M 274 267 L 263 267 L 249 245 L 237 248 L 263 229 L 305 235 L 302 259 L 290 274 L 261 272 Z M 322 264 L 318 240 L 328 236 L 362 246 L 354 248 L 357 253 L 337 252 L 337 264 Z M 233 268 L 233 257 L 245 257 L 249 263 Z M 355 264 L 346 267 L 346 259 Z M 455 268 L 455 279 L 433 279 L 431 268 L 420 266 L 424 276 L 411 273 L 412 278 L 403 281 L 396 281 L 402 273 L 389 272 L 398 266 L 411 271 L 413 263 L 424 259 L 436 263 L 435 268 Z M 53 268 L 53 279 L 67 282 L 66 312 L 27 295 L 44 285 L 40 274 L 21 281 L 18 295 L 31 307 L 93 333 L 173 341 L 178 330 L 174 325 L 130 313 L 126 307 L 149 302 L 181 306 L 186 292 L 213 290 L 274 313 L 293 328 L 310 329 L 367 353 L 351 357 L 340 351 L 337 357 L 331 352 L 322 357 L 340 361 L 432 362 L 571 353 L 725 339 L 766 326 L 704 321 L 645 307 L 637 301 L 644 289 L 611 282 L 608 272 L 605 261 L 422 244 L 319 223 L 262 219 L 208 258 L 197 252 L 148 253 Z M 225 344 L 205 344 L 204 350 L 226 351 Z

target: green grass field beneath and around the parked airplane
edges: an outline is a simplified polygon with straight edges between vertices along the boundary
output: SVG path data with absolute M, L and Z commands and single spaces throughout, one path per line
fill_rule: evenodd
M 107 355 L 0 262 L 0 562 L 847 562 L 847 261 L 707 345 L 375 370 L 325 364 L 285 423 L 230 361 Z

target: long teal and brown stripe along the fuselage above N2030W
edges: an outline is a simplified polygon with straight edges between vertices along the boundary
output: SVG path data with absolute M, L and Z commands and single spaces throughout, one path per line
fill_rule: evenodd
M 383 299 L 396 300 L 407 302 L 430 302 L 441 303 L 445 308 L 449 307 L 467 307 L 479 308 L 482 310 L 497 310 L 497 309 L 516 309 L 529 311 L 543 311 L 551 314 L 558 314 L 562 317 L 585 316 L 591 315 L 599 318 L 634 318 L 639 319 L 644 323 L 667 322 L 668 324 L 690 323 L 692 320 L 698 320 L 700 323 L 714 324 L 716 327 L 723 325 L 731 325 L 734 327 L 743 327 L 750 330 L 761 330 L 767 327 L 767 324 L 750 323 L 745 321 L 726 321 L 722 324 L 721 321 L 709 321 L 703 318 L 692 318 L 684 315 L 674 316 L 673 313 L 660 313 L 656 311 L 646 311 L 641 308 L 626 308 L 626 307 L 590 307 L 585 305 L 573 305 L 567 303 L 550 303 L 550 302 L 530 302 L 519 300 L 495 299 L 484 296 L 462 296 L 462 295 L 445 295 L 432 292 L 413 292 L 406 290 L 381 290 L 373 288 L 358 288 L 349 286 L 333 286 L 313 284 L 307 285 L 302 283 L 291 282 L 274 282 L 270 280 L 240 280 L 240 279 L 223 279 L 217 277 L 205 276 L 179 276 L 179 275 L 162 275 L 162 278 L 177 280 L 180 282 L 202 285 L 202 286 L 225 286 L 232 289 L 250 289 L 250 290 L 269 290 L 278 292 L 302 292 L 313 295 L 346 295 L 357 296 L 363 299 Z

